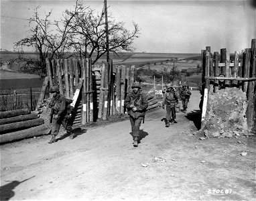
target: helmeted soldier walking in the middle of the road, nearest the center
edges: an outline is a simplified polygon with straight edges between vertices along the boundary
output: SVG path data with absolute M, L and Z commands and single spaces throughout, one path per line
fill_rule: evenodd
M 139 82 L 134 82 L 131 88 L 132 91 L 125 98 L 125 107 L 130 117 L 133 146 L 137 147 L 139 143 L 139 127 L 147 109 L 147 96 L 141 92 Z

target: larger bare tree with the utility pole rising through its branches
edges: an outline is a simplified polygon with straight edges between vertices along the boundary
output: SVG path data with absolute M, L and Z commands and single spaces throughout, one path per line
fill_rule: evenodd
M 105 13 L 94 14 L 89 7 L 82 3 L 78 4 L 76 11 L 65 11 L 64 21 L 74 15 L 70 28 L 70 46 L 78 52 L 80 57 L 93 58 L 92 64 L 97 62 L 101 56 L 107 52 L 106 48 L 106 29 Z M 133 40 L 139 37 L 139 27 L 133 23 L 133 31 L 125 29 L 123 21 L 116 22 L 111 15 L 108 16 L 109 25 L 109 52 L 118 54 L 121 51 L 131 52 L 135 50 L 132 47 Z

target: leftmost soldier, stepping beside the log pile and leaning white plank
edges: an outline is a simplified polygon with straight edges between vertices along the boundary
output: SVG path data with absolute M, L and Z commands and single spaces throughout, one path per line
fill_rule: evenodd
M 74 139 L 74 133 L 72 132 L 72 127 L 68 125 L 68 119 L 70 115 L 67 113 L 66 98 L 60 94 L 58 86 L 52 86 L 50 88 L 50 93 L 52 93 L 52 102 L 49 104 L 52 107 L 52 139 L 48 143 L 54 143 L 57 141 L 56 136 L 60 131 L 60 125 L 62 125 L 70 139 Z

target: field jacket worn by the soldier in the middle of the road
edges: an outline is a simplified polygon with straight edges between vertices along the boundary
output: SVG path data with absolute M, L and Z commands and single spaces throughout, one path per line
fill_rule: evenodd
M 137 107 L 137 111 L 133 112 L 130 105 Z M 144 117 L 147 109 L 147 96 L 141 90 L 137 94 L 132 91 L 125 98 L 125 107 L 127 107 L 128 115 L 134 119 Z

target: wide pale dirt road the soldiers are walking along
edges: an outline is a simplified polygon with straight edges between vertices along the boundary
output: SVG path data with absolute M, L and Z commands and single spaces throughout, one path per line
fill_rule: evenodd
M 255 200 L 255 137 L 199 140 L 199 98 L 170 128 L 148 113 L 137 148 L 129 121 L 2 145 L 1 200 Z

